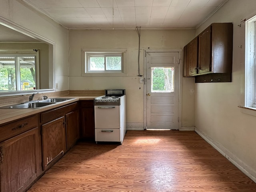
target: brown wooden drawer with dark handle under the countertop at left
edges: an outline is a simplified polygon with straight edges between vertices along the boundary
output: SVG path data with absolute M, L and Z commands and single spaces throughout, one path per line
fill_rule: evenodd
M 18 120 L 5 126 L 0 126 L 0 141 L 4 141 L 36 127 L 38 127 L 37 115 Z

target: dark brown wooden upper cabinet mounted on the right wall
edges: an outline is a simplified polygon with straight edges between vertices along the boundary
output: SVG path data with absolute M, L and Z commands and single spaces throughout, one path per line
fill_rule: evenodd
M 213 23 L 184 47 L 184 77 L 232 72 L 233 24 Z

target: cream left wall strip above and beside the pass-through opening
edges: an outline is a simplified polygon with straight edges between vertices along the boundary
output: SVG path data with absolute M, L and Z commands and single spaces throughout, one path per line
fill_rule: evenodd
M 59 91 L 68 90 L 68 30 L 20 0 L 0 0 L 0 16 L 55 42 L 56 83 Z

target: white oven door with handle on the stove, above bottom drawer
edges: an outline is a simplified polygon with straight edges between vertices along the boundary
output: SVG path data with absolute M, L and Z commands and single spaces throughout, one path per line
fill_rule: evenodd
M 95 128 L 120 129 L 120 105 L 94 106 Z

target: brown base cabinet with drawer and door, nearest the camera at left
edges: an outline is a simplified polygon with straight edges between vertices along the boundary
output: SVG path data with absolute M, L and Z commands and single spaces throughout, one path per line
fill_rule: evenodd
M 0 191 L 24 191 L 41 174 L 38 116 L 1 126 L 0 132 Z

